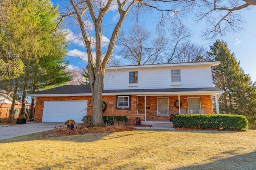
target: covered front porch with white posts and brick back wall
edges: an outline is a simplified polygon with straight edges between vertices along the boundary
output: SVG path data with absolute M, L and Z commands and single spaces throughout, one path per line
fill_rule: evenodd
M 216 113 L 219 114 L 218 99 L 222 90 L 210 89 L 214 89 L 214 91 L 137 95 L 136 117 L 148 122 L 170 121 L 171 114 L 213 114 L 212 96 L 216 99 Z

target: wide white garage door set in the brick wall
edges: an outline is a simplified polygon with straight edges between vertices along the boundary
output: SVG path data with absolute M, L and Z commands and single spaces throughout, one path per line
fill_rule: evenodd
M 82 123 L 86 115 L 87 100 L 80 101 L 45 101 L 42 122 L 65 122 L 73 119 Z

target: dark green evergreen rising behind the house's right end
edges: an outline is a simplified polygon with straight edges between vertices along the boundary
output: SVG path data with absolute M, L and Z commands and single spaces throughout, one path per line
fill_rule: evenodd
M 224 90 L 220 97 L 220 113 L 245 115 L 250 124 L 256 123 L 256 82 L 252 83 L 230 53 L 228 45 L 220 40 L 210 46 L 207 52 L 209 61 L 220 61 L 212 67 L 213 83 Z

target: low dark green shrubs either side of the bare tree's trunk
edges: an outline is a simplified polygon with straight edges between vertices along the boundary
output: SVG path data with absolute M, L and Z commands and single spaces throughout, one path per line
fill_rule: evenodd
M 90 115 L 84 116 L 82 121 L 84 122 L 86 127 L 93 126 L 93 119 Z M 115 121 L 128 122 L 128 119 L 126 116 L 103 116 L 103 121 L 106 125 L 114 125 Z

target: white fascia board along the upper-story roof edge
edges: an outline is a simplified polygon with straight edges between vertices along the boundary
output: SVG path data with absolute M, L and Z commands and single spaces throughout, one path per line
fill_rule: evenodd
M 155 68 L 155 67 L 170 67 L 170 66 L 200 66 L 200 65 L 217 66 L 217 65 L 219 65 L 219 64 L 220 64 L 220 61 L 198 62 L 198 63 L 148 64 L 148 65 L 133 65 L 133 66 L 115 66 L 115 67 L 107 67 L 106 70 L 129 69 L 129 68 Z

